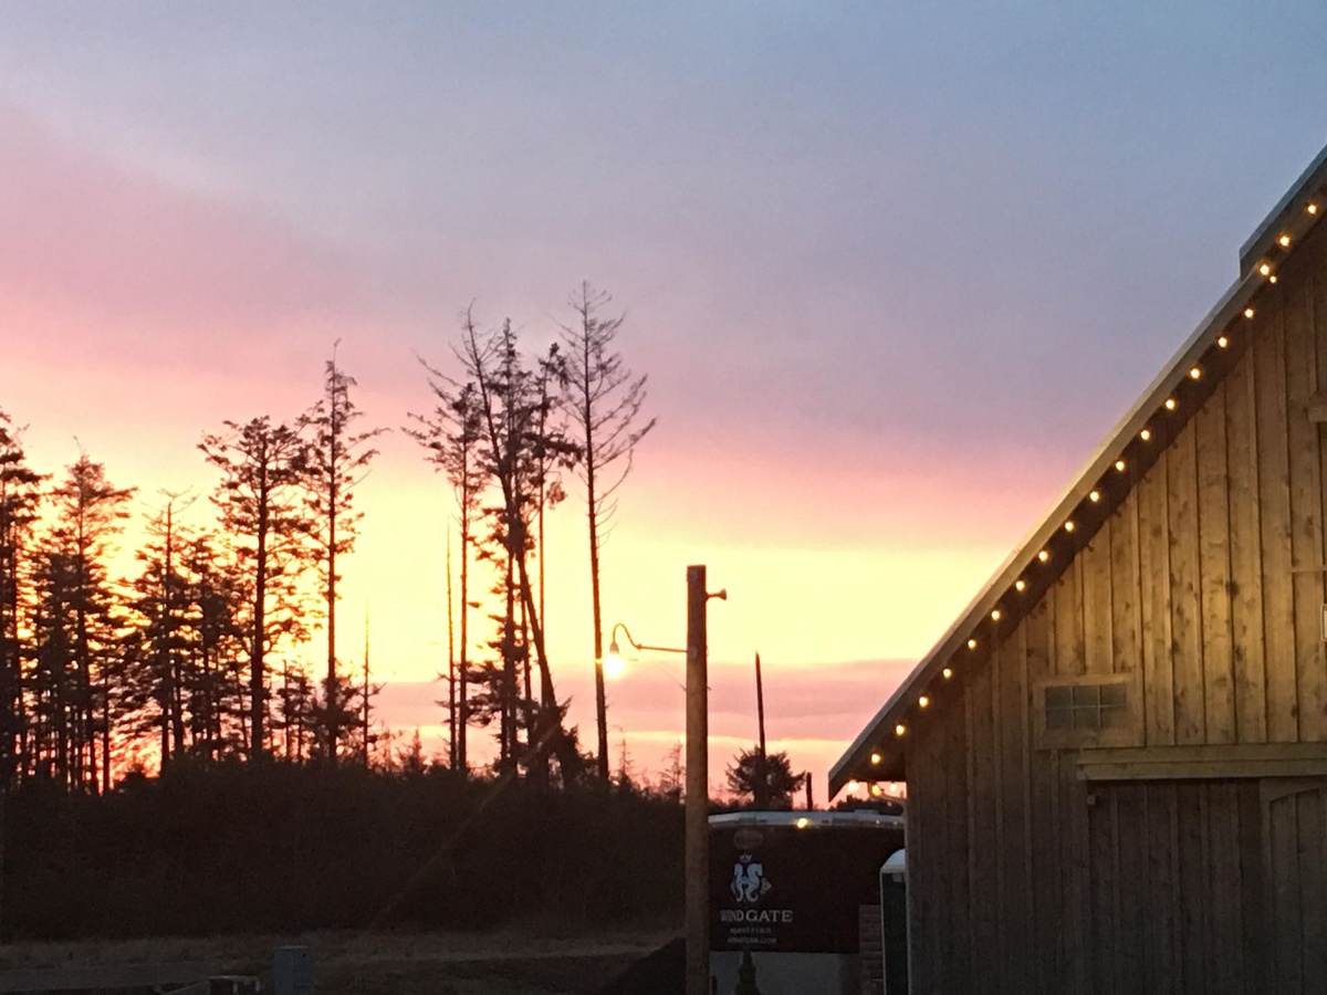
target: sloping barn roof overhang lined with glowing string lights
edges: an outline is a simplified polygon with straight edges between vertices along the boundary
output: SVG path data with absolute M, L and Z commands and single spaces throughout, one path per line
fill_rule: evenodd
M 1238 280 L 829 769 L 831 797 L 849 780 L 906 780 L 909 731 L 1036 605 L 1234 367 L 1258 296 L 1323 214 L 1327 149 L 1241 247 Z

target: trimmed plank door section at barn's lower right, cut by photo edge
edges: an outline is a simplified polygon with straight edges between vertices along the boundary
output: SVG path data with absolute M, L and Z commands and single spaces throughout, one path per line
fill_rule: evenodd
M 1327 777 L 1262 783 L 1267 927 L 1277 995 L 1327 991 Z

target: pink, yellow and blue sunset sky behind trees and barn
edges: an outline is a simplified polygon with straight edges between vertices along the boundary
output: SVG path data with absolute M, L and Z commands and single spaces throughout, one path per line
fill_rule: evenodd
M 0 409 L 143 511 L 210 491 L 204 431 L 316 399 L 336 340 L 399 429 L 467 304 L 539 346 L 589 280 L 658 418 L 606 622 L 681 646 L 707 564 L 711 780 L 759 650 L 823 801 L 1327 142 L 1324 37 L 1320 3 L 0 0 Z M 342 653 L 368 608 L 384 718 L 433 747 L 451 499 L 381 448 Z M 571 491 L 549 647 L 593 743 Z M 646 654 L 610 686 L 637 768 L 681 677 Z

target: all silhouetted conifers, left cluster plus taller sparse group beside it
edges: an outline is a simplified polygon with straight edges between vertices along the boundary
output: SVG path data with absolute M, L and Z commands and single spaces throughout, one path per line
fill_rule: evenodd
M 626 456 L 612 495 L 653 425 L 633 426 L 645 378 L 610 350 L 621 320 L 597 317 L 608 298 L 588 284 L 579 295 L 579 324 L 533 360 L 511 322 L 482 330 L 467 312 L 453 350 L 459 374 L 429 367 L 435 407 L 406 429 L 456 498 L 459 654 L 442 675 L 450 762 L 470 765 L 467 730 L 484 726 L 498 768 L 537 783 L 552 776 L 551 760 L 564 783 L 585 767 L 545 649 L 544 516 L 565 496 L 561 475 L 585 480 L 588 470 L 587 647 L 597 658 L 598 544 L 612 515 L 604 466 Z M 299 418 L 206 434 L 199 450 L 220 478 L 215 516 L 186 513 L 196 496 L 150 499 L 135 565 L 119 573 L 125 520 L 143 496 L 89 454 L 58 475 L 35 468 L 0 411 L 0 784 L 104 792 L 135 765 L 182 756 L 369 762 L 377 687 L 366 670 L 350 677 L 336 641 L 356 487 L 382 431 L 357 425 L 353 386 L 333 353 L 321 398 Z M 475 589 L 479 563 L 488 592 Z M 479 605 L 491 630 L 475 659 Z M 322 674 L 303 653 L 316 628 L 328 638 Z M 601 754 L 605 743 L 601 728 Z

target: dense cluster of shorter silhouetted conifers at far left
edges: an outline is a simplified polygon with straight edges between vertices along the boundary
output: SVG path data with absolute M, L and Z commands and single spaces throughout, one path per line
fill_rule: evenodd
M 356 472 L 374 455 L 374 432 L 350 431 L 353 385 L 333 358 L 324 398 L 292 423 L 264 415 L 206 435 L 199 448 L 220 471 L 215 524 L 184 513 L 194 498 L 162 494 L 123 576 L 135 490 L 86 452 L 60 476 L 37 471 L 0 411 L 5 784 L 102 792 L 143 762 L 186 755 L 368 756 L 360 706 L 373 687 L 334 667 L 317 683 L 295 655 L 312 621 L 332 617 Z

